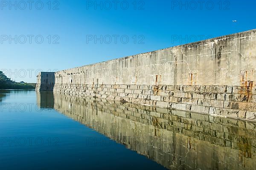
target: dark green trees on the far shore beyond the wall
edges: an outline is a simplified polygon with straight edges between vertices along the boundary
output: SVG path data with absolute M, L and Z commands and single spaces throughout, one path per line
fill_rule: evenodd
M 35 89 L 35 86 L 12 81 L 10 78 L 6 77 L 2 71 L 0 71 L 0 89 Z

